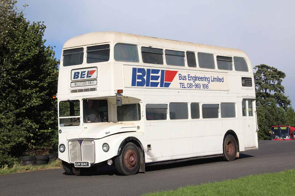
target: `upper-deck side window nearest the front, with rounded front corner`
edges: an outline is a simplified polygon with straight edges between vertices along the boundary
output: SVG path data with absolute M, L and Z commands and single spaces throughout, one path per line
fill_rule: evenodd
M 115 61 L 139 62 L 136 45 L 117 43 L 114 48 Z

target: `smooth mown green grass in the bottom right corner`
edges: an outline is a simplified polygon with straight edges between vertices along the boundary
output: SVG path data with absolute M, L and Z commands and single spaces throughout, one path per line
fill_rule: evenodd
M 155 195 L 295 195 L 295 169 L 146 194 Z

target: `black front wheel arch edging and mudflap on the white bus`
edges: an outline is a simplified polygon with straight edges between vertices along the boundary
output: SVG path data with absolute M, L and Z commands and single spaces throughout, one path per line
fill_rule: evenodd
M 143 148 L 142 143 L 141 143 L 140 140 L 137 139 L 136 137 L 130 136 L 130 137 L 125 138 L 125 139 L 121 142 L 121 144 L 119 145 L 118 152 L 117 152 L 117 156 L 119 156 L 119 155 L 122 153 L 123 148 L 125 147 L 125 145 L 126 145 L 128 142 L 132 142 L 132 143 L 134 143 L 138 148 L 140 148 L 141 153 L 140 153 L 140 167 L 139 167 L 139 172 L 145 172 L 145 151 L 144 151 L 144 148 Z

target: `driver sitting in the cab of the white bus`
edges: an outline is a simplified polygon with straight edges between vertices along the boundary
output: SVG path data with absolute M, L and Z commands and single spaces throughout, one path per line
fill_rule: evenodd
M 86 102 L 86 103 L 85 103 Z M 84 123 L 100 123 L 99 114 L 93 109 L 94 100 L 88 99 L 84 100 Z

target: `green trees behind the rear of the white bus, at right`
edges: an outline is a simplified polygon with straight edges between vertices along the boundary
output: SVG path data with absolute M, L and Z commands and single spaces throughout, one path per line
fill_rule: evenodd
M 258 139 L 270 139 L 270 129 L 274 125 L 293 126 L 294 109 L 291 100 L 282 86 L 286 74 L 274 67 L 260 64 L 255 66 L 256 111 L 258 121 Z

